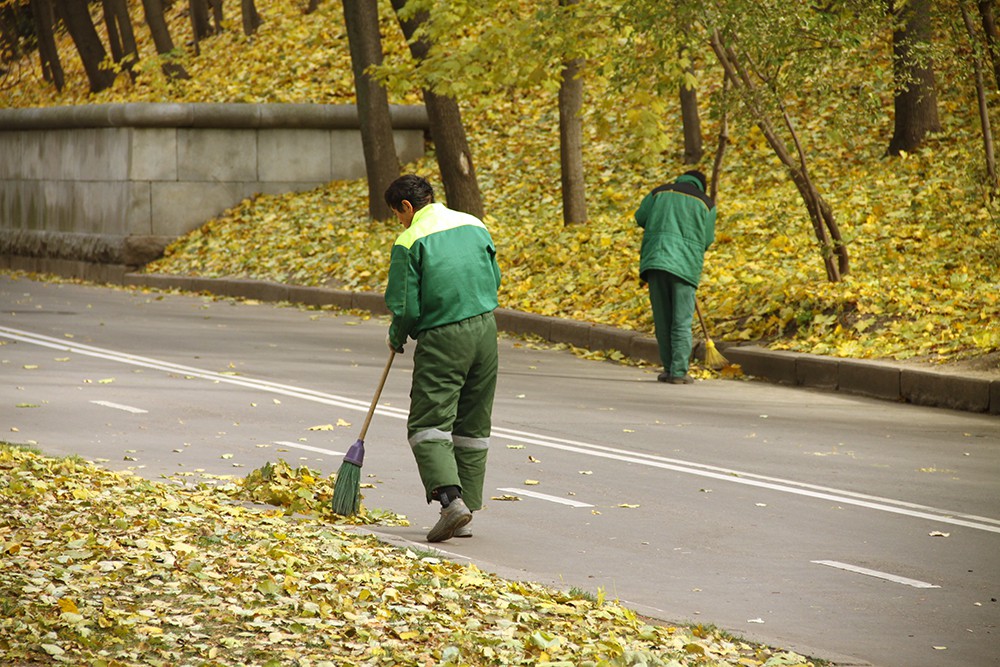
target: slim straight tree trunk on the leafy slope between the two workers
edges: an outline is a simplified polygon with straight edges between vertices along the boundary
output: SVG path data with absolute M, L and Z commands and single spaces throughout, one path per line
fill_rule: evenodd
M 580 0 L 559 0 L 561 7 L 575 5 Z M 581 58 L 563 63 L 559 84 L 559 166 L 562 181 L 563 224 L 587 222 L 587 194 L 583 176 L 583 79 Z

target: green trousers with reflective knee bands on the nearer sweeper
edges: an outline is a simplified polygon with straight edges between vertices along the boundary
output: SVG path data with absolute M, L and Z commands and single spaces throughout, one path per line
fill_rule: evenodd
M 417 334 L 407 437 L 427 502 L 458 486 L 470 510 L 482 508 L 497 367 L 492 312 Z

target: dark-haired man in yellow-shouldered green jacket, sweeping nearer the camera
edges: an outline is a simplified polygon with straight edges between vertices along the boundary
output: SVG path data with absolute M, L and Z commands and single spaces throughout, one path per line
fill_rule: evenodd
M 401 353 L 417 341 L 407 437 L 427 502 L 441 503 L 427 541 L 468 537 L 483 504 L 497 381 L 496 246 L 478 218 L 435 203 L 419 176 L 393 181 L 385 201 L 405 228 L 392 247 L 386 342 Z

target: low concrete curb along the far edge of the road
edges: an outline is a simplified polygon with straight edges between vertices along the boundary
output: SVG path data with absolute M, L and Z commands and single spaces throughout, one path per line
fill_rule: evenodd
M 259 301 L 290 301 L 308 306 L 335 306 L 386 315 L 382 294 L 235 278 L 201 278 L 162 274 L 125 273 L 123 284 L 155 289 L 208 292 Z M 561 317 L 496 310 L 497 327 L 517 335 L 535 335 L 552 343 L 590 350 L 618 350 L 652 364 L 659 363 L 656 339 L 637 331 Z M 913 369 L 892 362 L 840 359 L 798 352 L 768 350 L 755 345 L 721 346 L 746 375 L 778 384 L 810 387 L 845 394 L 907 402 L 927 407 L 1000 414 L 1000 380 Z M 701 346 L 695 356 L 704 358 Z

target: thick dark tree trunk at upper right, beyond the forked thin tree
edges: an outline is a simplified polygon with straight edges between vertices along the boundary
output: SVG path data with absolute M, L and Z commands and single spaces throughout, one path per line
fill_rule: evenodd
M 886 153 L 899 155 L 919 147 L 928 132 L 941 130 L 941 123 L 929 53 L 931 0 L 908 0 L 898 11 L 895 0 L 888 1 L 898 23 L 892 33 L 895 127 Z

